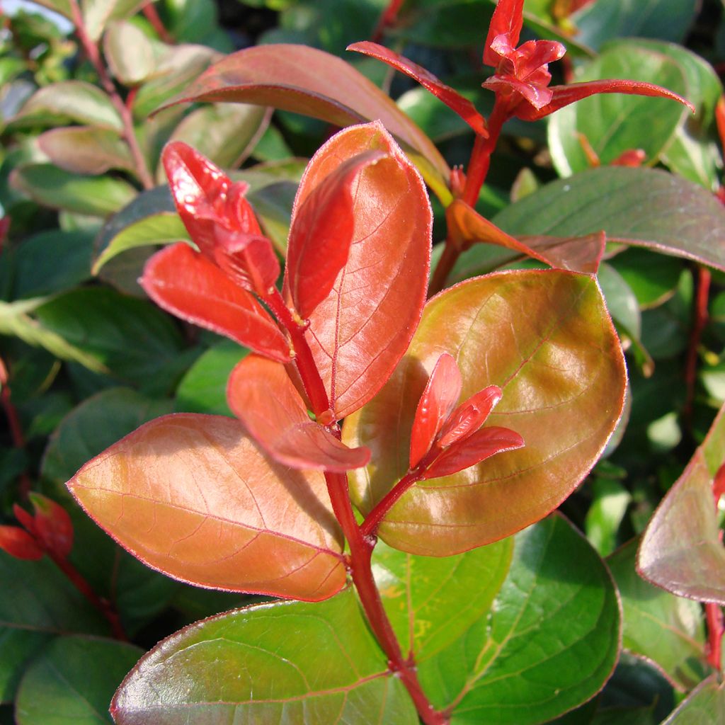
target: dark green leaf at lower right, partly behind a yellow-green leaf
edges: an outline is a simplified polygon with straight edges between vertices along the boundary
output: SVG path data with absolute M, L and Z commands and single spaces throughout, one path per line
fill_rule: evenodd
M 620 626 L 607 568 L 552 515 L 515 537 L 491 614 L 418 673 L 434 705 L 452 708 L 452 725 L 544 723 L 601 689 Z

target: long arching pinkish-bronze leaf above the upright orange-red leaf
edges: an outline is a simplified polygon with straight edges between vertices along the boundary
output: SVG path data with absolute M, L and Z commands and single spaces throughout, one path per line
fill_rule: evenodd
M 287 44 L 238 51 L 212 65 L 178 101 L 273 106 L 343 127 L 379 119 L 413 152 L 431 188 L 450 196 L 450 169 L 433 142 L 380 88 L 325 51 Z

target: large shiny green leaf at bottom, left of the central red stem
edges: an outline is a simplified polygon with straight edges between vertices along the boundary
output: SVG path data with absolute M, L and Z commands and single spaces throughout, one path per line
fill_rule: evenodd
M 111 712 L 117 725 L 418 724 L 350 589 L 318 604 L 262 604 L 178 631 L 141 658 Z

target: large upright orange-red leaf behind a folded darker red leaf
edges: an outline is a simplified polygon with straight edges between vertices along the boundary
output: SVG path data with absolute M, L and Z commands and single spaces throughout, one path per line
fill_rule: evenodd
M 347 128 L 322 146 L 299 185 L 294 214 L 337 167 L 371 150 L 386 158 L 358 176 L 347 262 L 310 315 L 307 331 L 336 418 L 357 410 L 384 385 L 426 299 L 432 221 L 426 188 L 379 123 Z

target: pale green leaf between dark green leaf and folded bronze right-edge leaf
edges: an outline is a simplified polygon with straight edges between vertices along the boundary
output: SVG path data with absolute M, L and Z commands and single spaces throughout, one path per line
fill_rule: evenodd
M 655 663 L 678 689 L 695 687 L 707 674 L 700 605 L 653 587 L 634 569 L 639 539 L 607 559 L 624 610 L 622 645 Z

